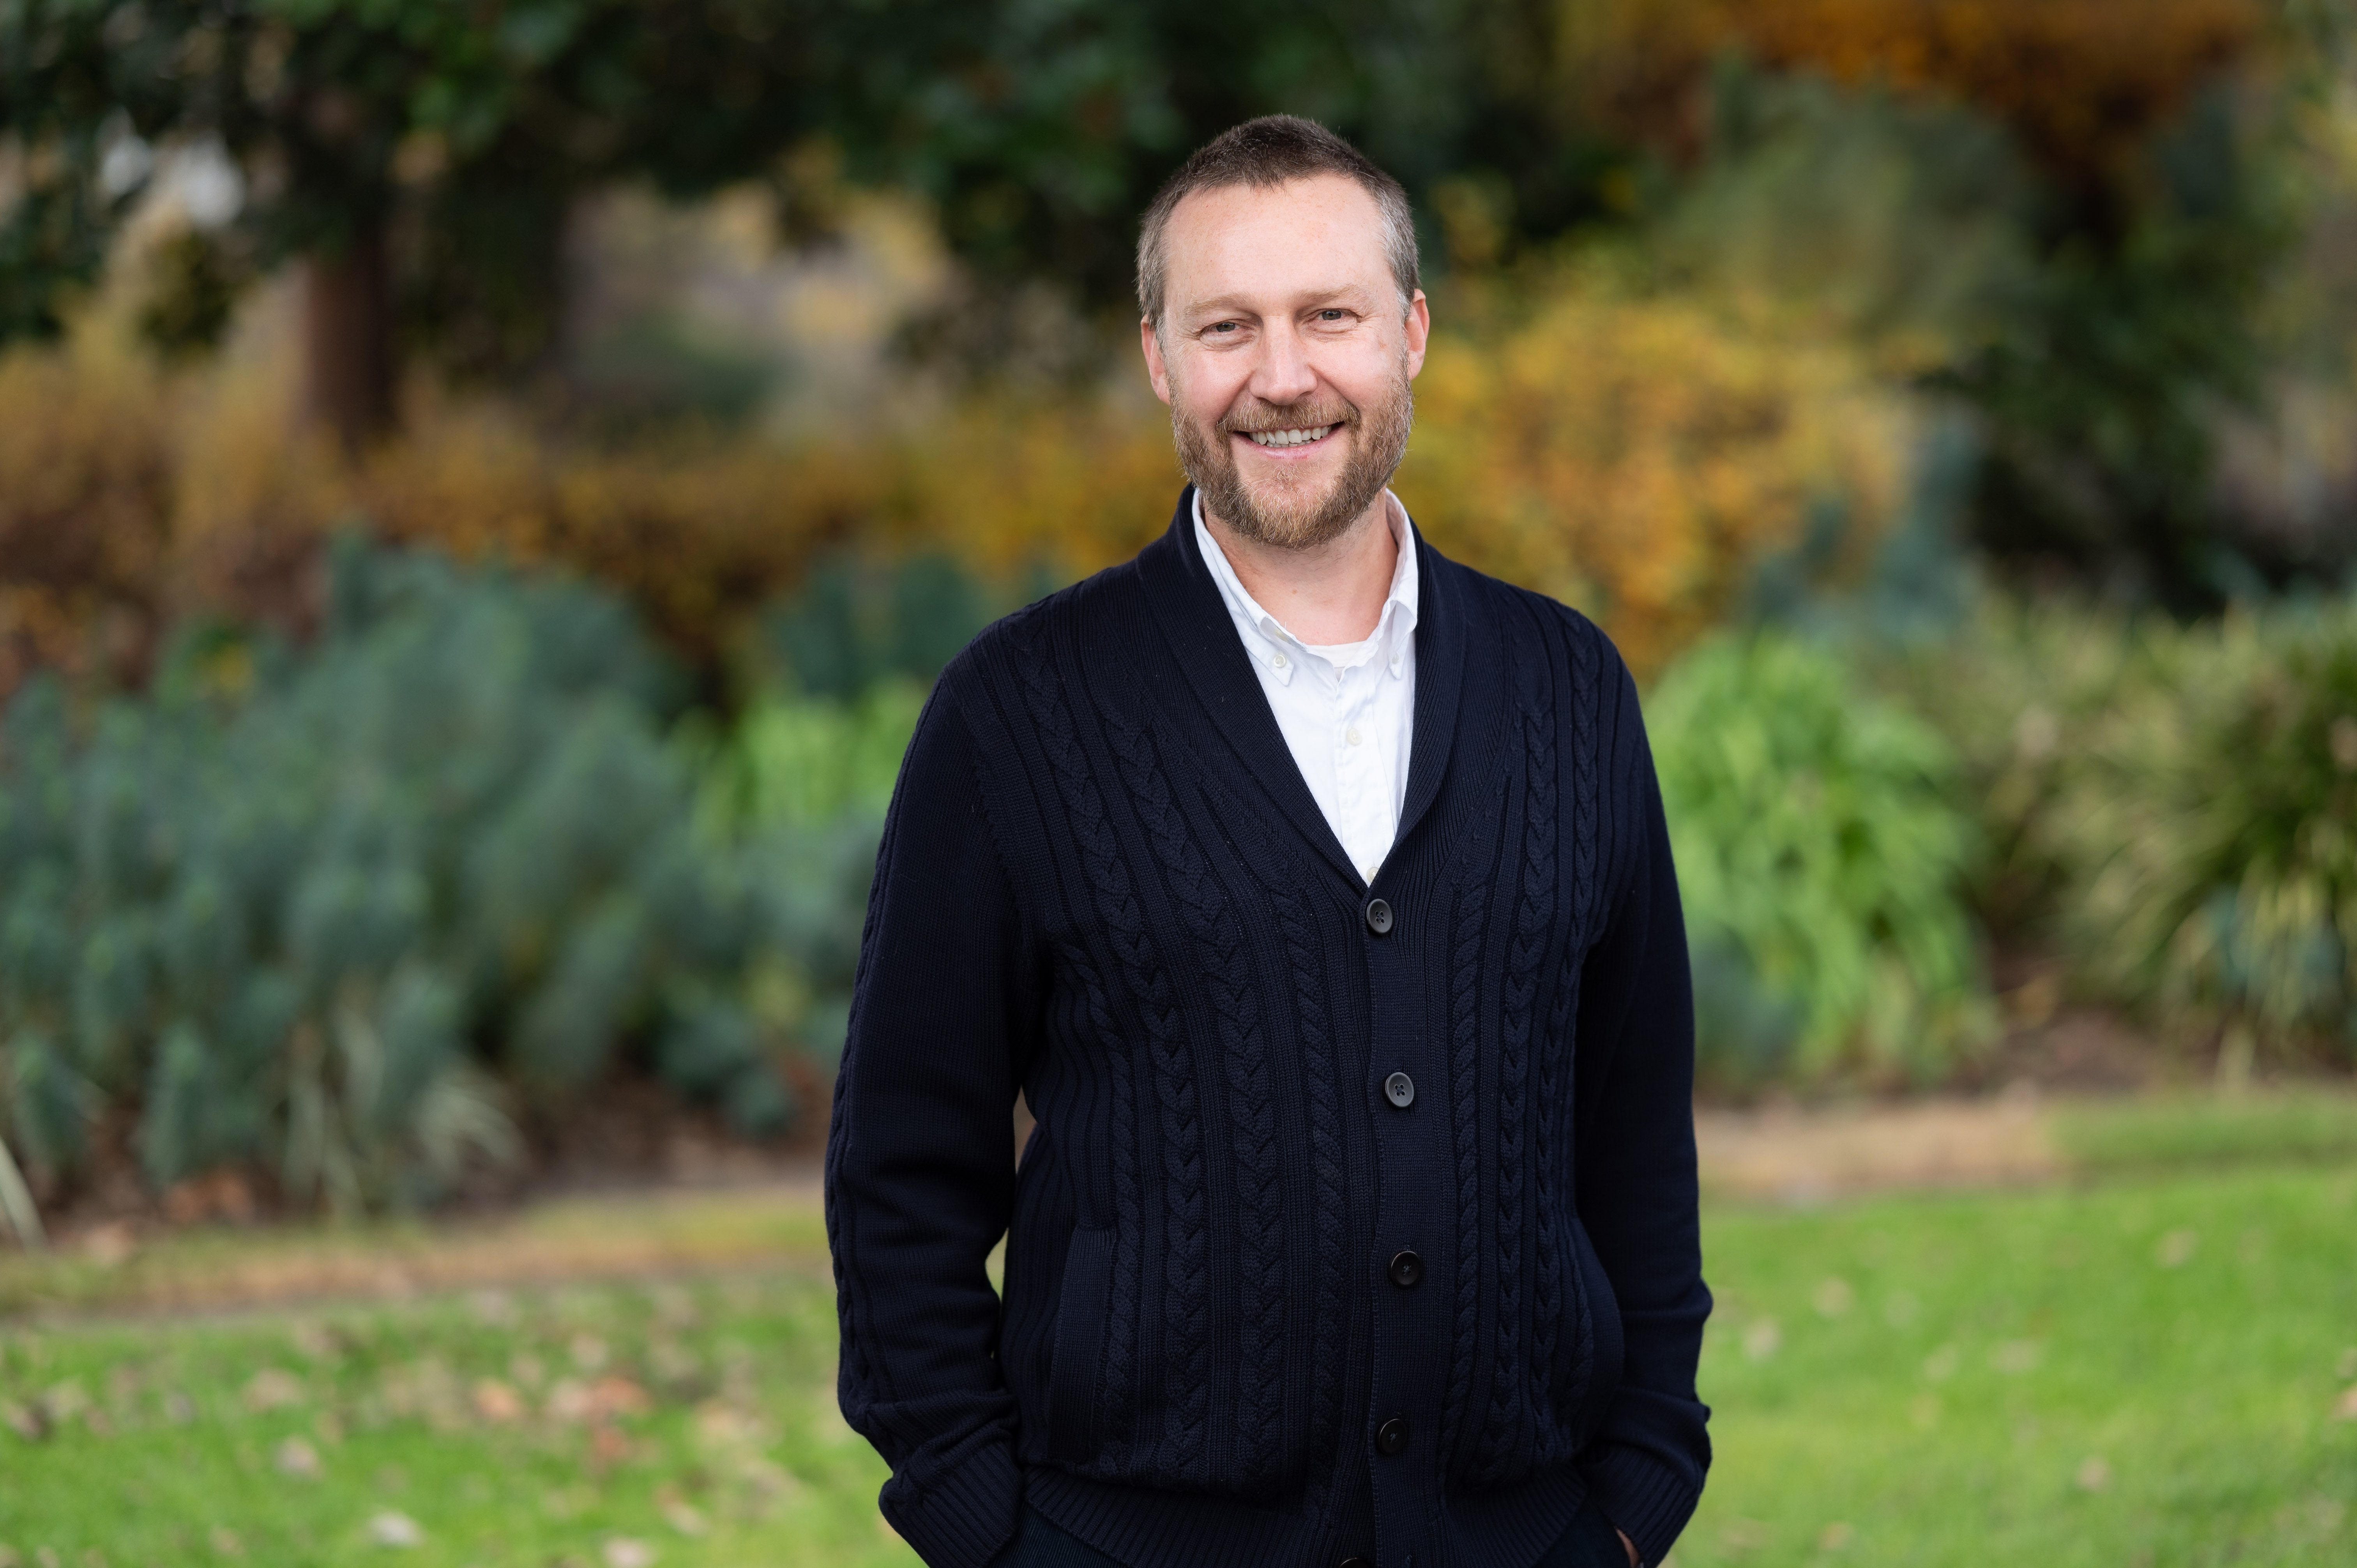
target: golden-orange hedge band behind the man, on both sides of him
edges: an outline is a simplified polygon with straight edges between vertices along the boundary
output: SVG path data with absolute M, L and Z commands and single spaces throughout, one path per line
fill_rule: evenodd
M 285 387 L 252 368 L 172 382 L 85 351 L 9 358 L 0 630 L 26 663 L 73 665 L 108 618 L 146 637 L 186 611 L 302 625 L 321 540 L 365 521 L 599 578 L 709 665 L 818 552 L 943 547 L 988 575 L 1077 575 L 1153 540 L 1181 486 L 1143 394 L 973 398 L 801 448 L 592 448 L 493 403 L 415 403 L 410 434 L 349 469 L 290 434 Z M 1650 670 L 1820 500 L 1871 535 L 1904 453 L 1904 401 L 1838 349 L 1570 283 L 1523 325 L 1435 337 L 1398 488 L 1435 545 L 1591 611 Z

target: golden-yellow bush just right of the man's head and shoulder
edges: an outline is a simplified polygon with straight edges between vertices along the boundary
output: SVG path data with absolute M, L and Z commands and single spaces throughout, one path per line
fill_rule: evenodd
M 1864 566 L 1907 500 L 1904 394 L 1836 342 L 1600 269 L 1534 292 L 1435 332 L 1417 382 L 1398 486 L 1440 549 L 1589 611 L 1640 672 L 1813 533 L 1829 571 Z

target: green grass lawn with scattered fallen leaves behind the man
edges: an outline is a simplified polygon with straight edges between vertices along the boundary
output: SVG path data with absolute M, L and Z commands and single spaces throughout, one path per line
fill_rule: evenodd
M 2343 1158 L 1716 1203 L 1706 1247 L 1681 1568 L 2357 1563 Z M 816 1261 L 0 1323 L 0 1568 L 912 1563 L 832 1363 Z

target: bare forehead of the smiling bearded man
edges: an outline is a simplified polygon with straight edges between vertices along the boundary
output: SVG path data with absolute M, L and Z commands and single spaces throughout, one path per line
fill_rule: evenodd
M 1384 212 L 1346 174 L 1190 191 L 1171 210 L 1162 255 L 1174 311 L 1207 299 L 1391 288 Z

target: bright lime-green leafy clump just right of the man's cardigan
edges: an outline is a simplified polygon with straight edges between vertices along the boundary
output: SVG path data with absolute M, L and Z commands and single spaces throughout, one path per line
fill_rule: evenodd
M 1987 1026 L 1956 759 L 1838 653 L 1763 632 L 1648 703 L 1706 1080 L 1926 1080 Z

